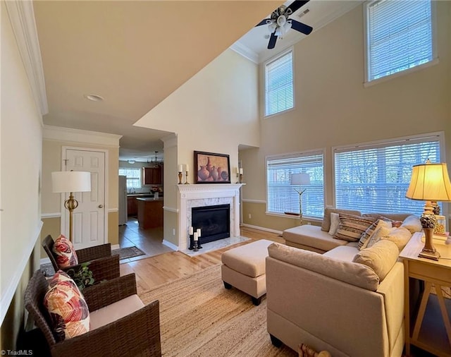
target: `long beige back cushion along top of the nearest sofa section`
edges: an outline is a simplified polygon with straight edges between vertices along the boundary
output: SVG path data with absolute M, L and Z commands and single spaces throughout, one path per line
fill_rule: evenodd
M 268 247 L 268 253 L 271 258 L 288 262 L 291 265 L 317 272 L 347 284 L 370 291 L 378 289 L 379 277 L 366 265 L 329 258 L 319 253 L 292 248 L 279 243 L 272 243 Z

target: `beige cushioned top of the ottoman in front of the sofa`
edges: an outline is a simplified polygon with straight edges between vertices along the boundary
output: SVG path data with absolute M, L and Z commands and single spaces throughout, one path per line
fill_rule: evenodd
M 268 246 L 273 243 L 266 239 L 255 241 L 245 246 L 239 246 L 227 250 L 221 255 L 224 265 L 235 272 L 240 272 L 248 277 L 259 277 L 265 274 L 265 258 L 268 256 Z

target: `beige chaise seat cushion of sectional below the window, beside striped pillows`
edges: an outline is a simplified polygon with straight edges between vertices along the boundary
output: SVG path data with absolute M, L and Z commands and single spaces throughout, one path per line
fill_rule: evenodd
M 345 246 L 347 241 L 335 239 L 328 231 L 321 231 L 319 226 L 304 224 L 283 231 L 285 241 L 290 241 L 302 246 L 314 247 L 319 250 L 328 251 L 335 247 Z

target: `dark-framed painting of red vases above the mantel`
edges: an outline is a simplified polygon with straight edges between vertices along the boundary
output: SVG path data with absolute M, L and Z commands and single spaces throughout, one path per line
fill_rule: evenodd
M 230 157 L 194 151 L 194 183 L 230 183 Z

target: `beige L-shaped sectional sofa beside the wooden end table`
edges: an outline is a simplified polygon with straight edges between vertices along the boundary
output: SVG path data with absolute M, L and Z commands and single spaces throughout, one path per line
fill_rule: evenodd
M 395 220 L 409 216 L 382 215 Z M 413 224 L 412 217 L 407 221 L 403 231 L 408 229 L 408 240 L 421 224 L 416 217 Z M 283 342 L 295 351 L 307 344 L 334 357 L 402 356 L 402 245 L 383 239 L 360 250 L 357 242 L 333 238 L 327 224 L 324 230 L 310 225 L 289 229 L 283 236 L 291 246 L 268 247 L 267 327 L 273 344 Z

